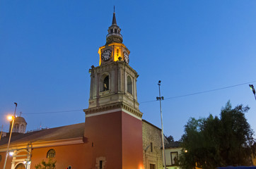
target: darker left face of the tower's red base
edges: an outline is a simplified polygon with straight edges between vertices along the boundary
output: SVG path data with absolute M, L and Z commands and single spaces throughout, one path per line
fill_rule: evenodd
M 83 168 L 93 168 L 101 159 L 106 168 L 122 168 L 122 112 L 86 117 Z

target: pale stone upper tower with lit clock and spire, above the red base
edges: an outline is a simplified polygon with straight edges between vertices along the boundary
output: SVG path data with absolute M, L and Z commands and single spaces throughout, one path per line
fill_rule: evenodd
M 129 66 L 130 51 L 122 44 L 121 29 L 117 26 L 115 12 L 112 25 L 107 31 L 106 44 L 98 50 L 99 66 L 92 66 L 90 69 L 89 109 L 119 104 L 141 118 L 136 92 L 136 79 L 139 75 Z

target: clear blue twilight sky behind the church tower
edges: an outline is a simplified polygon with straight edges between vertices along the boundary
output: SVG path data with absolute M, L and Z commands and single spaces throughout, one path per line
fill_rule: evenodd
M 91 65 L 105 44 L 115 5 L 117 25 L 138 73 L 143 118 L 175 140 L 190 117 L 219 115 L 228 100 L 250 106 L 256 131 L 256 1 L 1 1 L 0 125 L 17 113 L 28 130 L 82 123 Z M 236 84 L 243 84 L 230 87 Z M 178 97 L 211 89 L 214 92 Z M 152 101 L 152 102 L 145 102 Z M 61 111 L 59 113 L 50 113 Z M 65 112 L 69 111 L 69 112 Z

